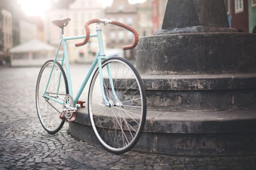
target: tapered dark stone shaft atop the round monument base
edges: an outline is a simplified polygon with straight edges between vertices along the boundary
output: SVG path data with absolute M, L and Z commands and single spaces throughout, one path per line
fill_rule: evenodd
M 218 15 L 215 15 L 217 14 Z M 228 27 L 225 4 L 221 0 L 169 0 L 162 29 L 207 25 Z

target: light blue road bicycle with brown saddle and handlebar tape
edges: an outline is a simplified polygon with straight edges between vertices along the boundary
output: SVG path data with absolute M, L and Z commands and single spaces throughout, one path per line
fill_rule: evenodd
M 131 150 L 138 142 L 145 125 L 147 103 L 143 81 L 132 64 L 121 57 L 109 57 L 104 53 L 100 24 L 113 24 L 134 34 L 134 43 L 124 46 L 124 50 L 134 48 L 138 43 L 138 33 L 132 27 L 108 19 L 92 19 L 86 22 L 86 35 L 64 36 L 64 27 L 70 18 L 52 20 L 62 30 L 62 38 L 54 60 L 47 60 L 41 67 L 36 81 L 36 111 L 45 131 L 54 134 L 65 122 L 76 119 L 76 111 L 84 107 L 79 101 L 83 89 L 92 75 L 88 90 L 88 115 L 93 132 L 100 144 L 109 152 L 120 154 Z M 90 34 L 90 24 L 97 24 L 95 34 Z M 96 37 L 99 52 L 93 60 L 86 78 L 73 97 L 72 83 L 67 53 L 67 41 L 83 39 L 76 46 L 85 45 L 89 38 Z M 62 59 L 58 53 L 63 46 Z M 65 69 L 64 67 L 65 63 Z M 96 67 L 97 66 L 97 67 Z M 92 74 L 92 72 L 94 73 Z M 67 76 L 66 76 L 67 75 Z M 123 88 L 125 87 L 125 89 Z M 100 92 L 100 96 L 97 94 Z

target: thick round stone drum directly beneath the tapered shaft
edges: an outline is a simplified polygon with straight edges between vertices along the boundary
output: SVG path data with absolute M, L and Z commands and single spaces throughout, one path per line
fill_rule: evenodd
M 255 73 L 255 46 L 255 34 L 238 32 L 142 37 L 136 68 L 142 74 Z

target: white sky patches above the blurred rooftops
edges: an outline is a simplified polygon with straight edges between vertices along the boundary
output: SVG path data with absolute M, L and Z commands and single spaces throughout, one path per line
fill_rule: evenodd
M 51 8 L 52 0 L 18 0 L 22 11 L 28 16 L 39 16 L 44 18 L 44 12 Z M 53 0 L 58 1 L 58 0 Z M 113 0 L 97 0 L 103 7 L 109 6 Z M 143 3 L 147 0 L 129 0 L 129 3 Z

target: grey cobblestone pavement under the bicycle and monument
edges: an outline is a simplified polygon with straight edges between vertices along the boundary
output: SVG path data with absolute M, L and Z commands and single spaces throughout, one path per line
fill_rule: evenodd
M 139 152 L 113 155 L 101 146 L 72 138 L 68 124 L 57 134 L 47 134 L 35 108 L 39 70 L 39 67 L 0 67 L 0 169 L 256 168 L 255 156 L 175 157 Z M 84 66 L 72 66 L 72 70 L 79 73 L 72 74 L 72 79 L 81 81 Z

